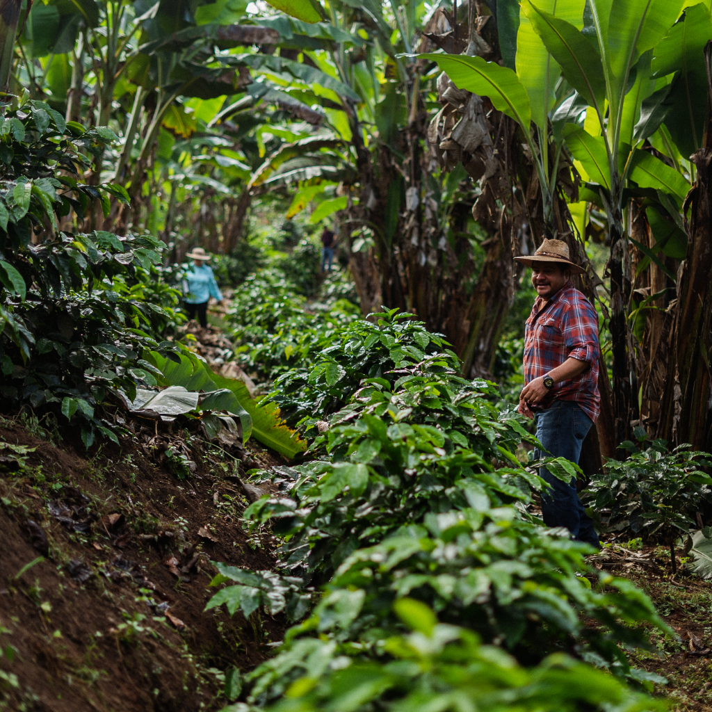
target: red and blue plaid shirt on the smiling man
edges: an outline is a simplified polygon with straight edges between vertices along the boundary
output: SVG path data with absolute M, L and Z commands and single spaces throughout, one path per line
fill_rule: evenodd
M 598 392 L 598 315 L 579 290 L 567 282 L 544 305 L 534 303 L 524 337 L 524 382 L 546 375 L 569 357 L 585 361 L 589 368 L 575 378 L 554 384 L 538 409 L 548 408 L 555 399 L 575 401 L 592 421 L 600 412 Z

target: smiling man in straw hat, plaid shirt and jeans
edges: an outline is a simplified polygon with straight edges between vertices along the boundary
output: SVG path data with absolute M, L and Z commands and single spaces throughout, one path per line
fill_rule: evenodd
M 538 294 L 525 327 L 519 412 L 535 419 L 536 436 L 550 454 L 578 464 L 584 438 L 600 412 L 598 315 L 570 281 L 584 270 L 570 261 L 565 242 L 545 240 L 532 256 L 515 260 L 532 268 Z M 542 453 L 535 451 L 535 456 Z M 576 478 L 566 483 L 545 468 L 540 475 L 552 486 L 541 498 L 544 523 L 566 527 L 573 539 L 600 548 L 576 493 Z

